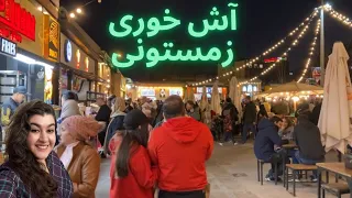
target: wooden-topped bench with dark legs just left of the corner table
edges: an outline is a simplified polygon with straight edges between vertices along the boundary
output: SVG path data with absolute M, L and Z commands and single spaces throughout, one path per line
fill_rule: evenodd
M 288 169 L 293 170 L 294 197 L 296 197 L 296 177 L 297 177 L 297 172 L 317 170 L 318 167 L 316 165 L 286 164 L 286 168 L 285 168 L 285 173 L 284 173 L 284 183 L 286 183 L 286 190 L 288 190 Z

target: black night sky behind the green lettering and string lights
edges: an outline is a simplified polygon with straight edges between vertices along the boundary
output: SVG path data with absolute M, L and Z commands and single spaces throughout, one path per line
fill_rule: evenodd
M 62 6 L 67 10 L 73 10 L 88 0 L 62 0 Z M 102 3 L 91 3 L 84 8 L 85 15 L 80 15 L 77 22 L 87 31 L 87 33 L 107 51 L 109 55 L 112 52 L 135 53 L 135 38 L 114 38 L 109 34 L 109 22 L 119 24 L 121 16 L 132 14 L 134 19 L 151 16 L 162 18 L 165 9 L 170 9 L 170 13 L 180 19 L 184 24 L 188 22 L 200 23 L 202 19 L 209 18 L 212 7 L 218 7 L 220 14 L 229 12 L 227 4 L 238 2 L 238 31 L 227 31 L 223 33 L 212 33 L 206 40 L 194 40 L 186 34 L 186 25 L 183 28 L 160 33 L 152 40 L 145 40 L 148 46 L 162 46 L 164 42 L 175 43 L 177 48 L 193 48 L 201 46 L 205 48 L 211 46 L 226 47 L 226 42 L 231 40 L 234 44 L 235 58 L 252 58 L 263 53 L 272 44 L 278 42 L 286 34 L 306 19 L 314 8 L 318 7 L 318 0 L 102 0 Z M 329 3 L 337 11 L 352 18 L 351 0 L 331 0 Z M 315 22 L 312 28 L 315 28 Z M 326 21 L 326 53 L 331 53 L 333 42 L 342 41 L 352 46 L 352 29 L 348 29 L 330 16 Z M 299 46 L 289 55 L 290 70 L 299 75 L 308 55 L 308 45 L 311 43 L 314 32 L 307 33 Z M 160 47 L 162 48 L 162 47 Z M 317 51 L 318 52 L 318 51 Z M 270 55 L 275 57 L 282 54 L 278 50 Z M 318 56 L 312 65 L 319 66 Z M 162 63 L 153 68 L 145 68 L 141 62 L 131 68 L 120 69 L 124 76 L 134 80 L 145 79 L 145 74 L 156 74 L 160 76 L 167 74 L 183 75 L 215 75 L 217 65 L 213 63 Z

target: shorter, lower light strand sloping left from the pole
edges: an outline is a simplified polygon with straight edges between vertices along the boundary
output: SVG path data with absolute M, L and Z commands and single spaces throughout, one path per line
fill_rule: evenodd
M 282 56 L 279 56 L 279 58 L 277 59 L 277 62 L 275 64 L 272 64 L 268 68 L 264 69 L 260 75 L 254 76 L 253 78 L 251 78 L 250 80 L 246 81 L 241 81 L 239 82 L 239 85 L 243 85 L 243 84 L 248 84 L 248 82 L 252 82 L 254 80 L 256 80 L 260 76 L 264 76 L 266 75 L 268 72 L 271 72 L 273 68 L 275 68 L 279 62 L 282 62 L 283 57 L 287 57 L 288 53 L 296 46 L 298 46 L 299 43 L 299 38 L 302 38 L 306 35 L 307 30 L 310 26 L 310 23 L 312 21 L 314 18 L 311 18 L 308 22 L 308 24 L 301 30 L 301 32 L 299 33 L 299 35 L 297 36 L 296 40 L 293 41 L 293 43 L 290 44 L 289 47 L 287 47 L 287 50 L 283 53 Z

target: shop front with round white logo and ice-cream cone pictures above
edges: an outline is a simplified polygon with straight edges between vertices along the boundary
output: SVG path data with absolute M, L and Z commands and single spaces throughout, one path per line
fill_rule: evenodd
M 77 92 L 78 100 L 90 102 L 96 100 L 96 65 L 78 45 L 61 33 L 61 74 L 59 92 L 73 90 Z

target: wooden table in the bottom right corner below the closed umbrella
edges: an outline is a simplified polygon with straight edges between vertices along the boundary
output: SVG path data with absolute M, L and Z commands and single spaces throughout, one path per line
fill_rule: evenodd
M 352 191 L 352 169 L 344 167 L 344 163 L 318 163 L 318 198 L 321 197 L 321 172 L 331 172 L 337 176 L 344 177 L 348 182 L 350 191 Z M 350 194 L 352 198 L 352 194 Z

